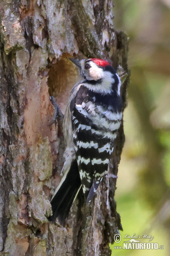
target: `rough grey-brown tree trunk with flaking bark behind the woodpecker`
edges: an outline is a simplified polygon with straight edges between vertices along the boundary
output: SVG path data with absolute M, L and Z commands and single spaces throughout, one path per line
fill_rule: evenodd
M 116 179 L 104 180 L 92 207 L 75 202 L 66 228 L 46 217 L 64 147 L 57 122 L 48 126 L 54 113 L 49 94 L 64 111 L 78 80 L 68 57 L 99 57 L 118 68 L 126 106 L 128 41 L 113 18 L 112 0 L 1 2 L 0 255 L 111 254 L 108 244 L 122 229 Z M 110 166 L 115 175 L 123 143 L 122 124 Z

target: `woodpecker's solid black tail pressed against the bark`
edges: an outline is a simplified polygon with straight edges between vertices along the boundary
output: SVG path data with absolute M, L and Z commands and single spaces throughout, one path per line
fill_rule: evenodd
M 50 216 L 48 220 L 55 222 L 56 218 L 58 218 L 60 224 L 65 226 L 65 219 L 70 212 L 71 205 L 80 186 L 81 180 L 78 164 L 77 161 L 74 160 L 61 187 L 51 200 L 53 215 Z

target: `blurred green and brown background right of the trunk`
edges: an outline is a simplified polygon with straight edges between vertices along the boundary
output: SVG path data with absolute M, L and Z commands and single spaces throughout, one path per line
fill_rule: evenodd
M 112 255 L 170 255 L 170 0 L 114 4 L 115 28 L 129 36 L 131 77 L 115 193 L 122 241 Z M 164 249 L 114 249 L 134 233 Z

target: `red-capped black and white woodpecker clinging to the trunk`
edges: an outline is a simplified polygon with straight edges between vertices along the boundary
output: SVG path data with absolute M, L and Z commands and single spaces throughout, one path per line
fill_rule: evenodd
M 82 80 L 74 85 L 63 116 L 64 176 L 51 199 L 53 215 L 65 226 L 80 189 L 86 204 L 106 176 L 114 141 L 122 122 L 121 81 L 116 70 L 96 58 L 75 60 Z

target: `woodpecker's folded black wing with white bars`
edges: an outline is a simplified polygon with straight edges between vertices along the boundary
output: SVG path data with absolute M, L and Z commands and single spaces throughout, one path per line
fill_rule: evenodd
M 83 193 L 87 204 L 98 188 L 100 181 L 107 174 L 110 155 L 113 151 L 113 131 L 107 128 L 113 126 L 113 120 L 94 107 L 97 93 L 81 86 L 73 100 L 72 130 L 78 169 Z

